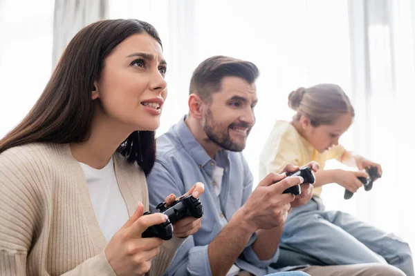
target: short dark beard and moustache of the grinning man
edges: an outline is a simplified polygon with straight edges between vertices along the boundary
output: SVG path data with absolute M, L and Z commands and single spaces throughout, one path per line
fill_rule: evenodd
M 248 128 L 249 126 L 246 124 L 231 124 L 230 126 L 242 126 L 244 128 Z M 208 138 L 210 141 L 213 141 L 214 144 L 220 146 L 221 148 L 224 148 L 225 150 L 230 150 L 234 152 L 240 152 L 242 151 L 246 143 L 245 141 L 241 141 L 240 143 L 237 143 L 235 141 L 232 141 L 230 139 L 229 135 L 229 126 L 222 126 L 217 121 L 213 119 L 212 112 L 210 109 L 205 114 L 205 126 L 203 127 L 203 130 L 205 131 L 206 135 L 208 135 Z M 250 129 L 247 131 L 247 136 L 250 132 Z

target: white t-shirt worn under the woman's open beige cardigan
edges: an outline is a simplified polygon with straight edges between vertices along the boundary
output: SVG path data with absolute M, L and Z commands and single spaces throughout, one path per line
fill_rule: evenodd
M 97 170 L 80 162 L 86 177 L 95 216 L 107 242 L 129 219 L 127 205 L 121 195 L 113 158 Z

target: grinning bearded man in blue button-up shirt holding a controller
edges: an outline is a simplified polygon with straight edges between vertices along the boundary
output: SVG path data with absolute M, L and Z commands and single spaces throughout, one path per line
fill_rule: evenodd
M 147 178 L 151 208 L 166 193 L 182 195 L 198 181 L 207 186 L 200 197 L 201 228 L 178 249 L 167 275 L 266 275 L 291 269 L 323 276 L 402 275 L 386 265 L 270 267 L 278 259 L 288 210 L 305 204 L 313 186 L 303 184 L 298 197 L 283 194 L 304 179 L 270 173 L 252 192 L 252 173 L 241 151 L 255 124 L 258 75 L 248 61 L 206 59 L 190 82 L 188 115 L 158 138 L 156 164 Z M 284 170 L 295 169 L 288 164 Z M 189 221 L 178 224 L 192 228 Z

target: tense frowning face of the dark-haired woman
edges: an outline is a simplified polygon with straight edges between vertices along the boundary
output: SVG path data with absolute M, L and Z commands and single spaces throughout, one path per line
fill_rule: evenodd
M 129 131 L 156 130 L 167 97 L 167 63 L 160 44 L 147 33 L 124 39 L 105 59 L 92 99 L 107 121 Z

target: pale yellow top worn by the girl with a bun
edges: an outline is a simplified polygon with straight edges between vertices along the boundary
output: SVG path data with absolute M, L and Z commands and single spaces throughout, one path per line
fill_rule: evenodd
M 288 163 L 304 166 L 310 161 L 317 161 L 320 170 L 324 169 L 326 160 L 338 159 L 346 150 L 342 146 L 333 146 L 330 150 L 318 152 L 297 129 L 288 121 L 276 121 L 273 130 L 259 156 L 259 179 L 264 179 L 270 172 L 281 172 Z M 322 187 L 314 189 L 314 195 L 320 197 Z

